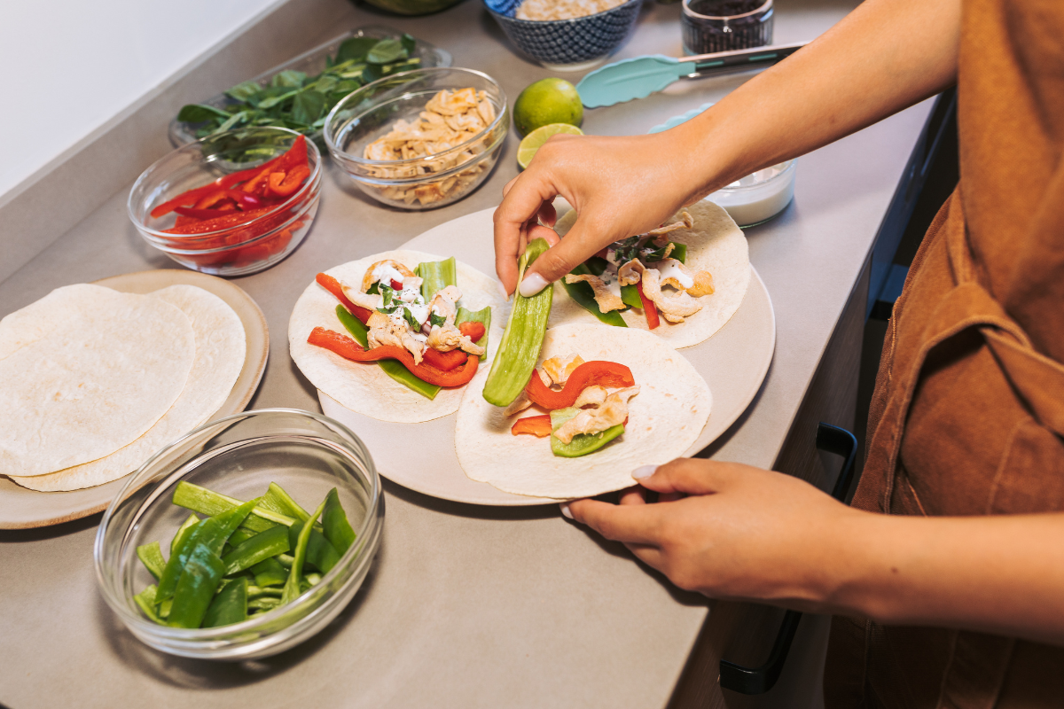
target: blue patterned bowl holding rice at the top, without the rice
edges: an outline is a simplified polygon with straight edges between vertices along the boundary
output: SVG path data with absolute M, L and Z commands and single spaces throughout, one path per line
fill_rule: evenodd
M 533 21 L 514 17 L 521 0 L 484 0 L 502 31 L 525 54 L 550 69 L 588 69 L 617 49 L 635 29 L 643 0 L 571 20 Z

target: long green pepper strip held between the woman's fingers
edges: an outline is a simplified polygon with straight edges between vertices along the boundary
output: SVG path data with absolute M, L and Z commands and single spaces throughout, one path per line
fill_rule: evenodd
M 529 243 L 518 261 L 517 282 L 525 277 L 525 270 L 535 263 L 550 246 L 546 239 Z M 547 318 L 554 297 L 553 288 L 544 288 L 532 298 L 525 298 L 520 290 L 514 293 L 514 307 L 510 322 L 499 342 L 499 351 L 492 361 L 492 371 L 484 384 L 484 399 L 493 406 L 509 406 L 525 390 L 543 348 L 547 332 Z

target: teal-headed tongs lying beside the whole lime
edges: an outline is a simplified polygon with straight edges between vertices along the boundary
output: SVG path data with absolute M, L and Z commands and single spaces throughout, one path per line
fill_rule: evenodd
M 797 52 L 805 44 L 799 41 L 794 45 L 769 45 L 754 49 L 684 56 L 679 60 L 664 54 L 636 56 L 592 71 L 577 84 L 577 92 L 588 108 L 612 106 L 615 103 L 646 98 L 680 79 L 776 64 Z

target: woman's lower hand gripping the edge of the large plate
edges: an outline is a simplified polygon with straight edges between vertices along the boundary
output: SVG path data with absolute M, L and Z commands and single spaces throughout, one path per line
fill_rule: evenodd
M 632 491 L 620 505 L 579 500 L 568 510 L 680 588 L 712 597 L 821 609 L 831 593 L 822 572 L 837 562 L 832 540 L 864 516 L 796 477 L 739 463 L 680 458 L 638 482 L 674 501 L 646 504 Z

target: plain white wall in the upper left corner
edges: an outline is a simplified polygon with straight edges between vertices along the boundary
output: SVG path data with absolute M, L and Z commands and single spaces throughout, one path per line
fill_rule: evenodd
M 0 196 L 281 2 L 0 0 Z

